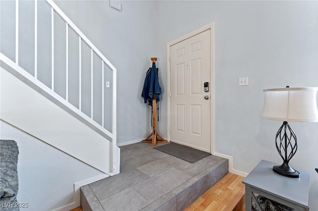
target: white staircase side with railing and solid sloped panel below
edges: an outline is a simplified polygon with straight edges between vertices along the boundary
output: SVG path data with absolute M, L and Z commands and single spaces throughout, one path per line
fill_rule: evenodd
M 0 119 L 118 174 L 116 68 L 53 0 L 0 6 Z

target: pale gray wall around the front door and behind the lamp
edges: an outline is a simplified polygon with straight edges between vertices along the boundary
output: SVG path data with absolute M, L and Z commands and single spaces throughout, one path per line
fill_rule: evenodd
M 215 152 L 232 156 L 234 169 L 246 173 L 261 159 L 282 162 L 275 147 L 282 122 L 258 117 L 262 90 L 318 86 L 318 2 L 157 1 L 157 9 L 156 50 L 162 69 L 167 43 L 215 24 Z M 249 86 L 239 87 L 243 76 L 249 77 Z M 161 105 L 165 113 L 165 102 Z M 162 116 L 163 136 L 165 122 Z M 290 126 L 298 137 L 291 165 L 312 172 L 310 209 L 318 210 L 318 124 Z

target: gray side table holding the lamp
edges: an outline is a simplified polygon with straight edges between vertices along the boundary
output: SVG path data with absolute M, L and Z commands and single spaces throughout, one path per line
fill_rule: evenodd
M 299 170 L 300 178 L 290 178 L 273 171 L 278 163 L 261 160 L 242 181 L 245 184 L 245 211 L 251 211 L 253 193 L 273 200 L 295 211 L 309 210 L 310 172 Z M 260 210 L 260 209 L 259 209 Z

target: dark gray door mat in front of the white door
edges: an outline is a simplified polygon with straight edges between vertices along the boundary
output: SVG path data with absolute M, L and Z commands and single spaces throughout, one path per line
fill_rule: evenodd
M 191 163 L 195 163 L 200 159 L 211 155 L 210 153 L 197 150 L 191 147 L 183 146 L 180 144 L 176 144 L 173 142 L 158 147 L 154 147 L 154 149 Z

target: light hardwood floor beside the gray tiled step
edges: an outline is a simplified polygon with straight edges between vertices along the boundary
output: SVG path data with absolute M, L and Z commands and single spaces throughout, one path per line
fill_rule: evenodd
M 244 211 L 244 177 L 228 173 L 185 211 Z M 80 207 L 71 211 L 81 211 Z

